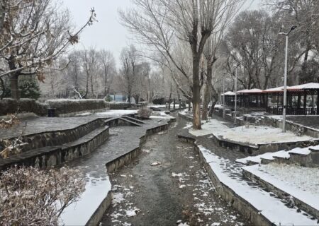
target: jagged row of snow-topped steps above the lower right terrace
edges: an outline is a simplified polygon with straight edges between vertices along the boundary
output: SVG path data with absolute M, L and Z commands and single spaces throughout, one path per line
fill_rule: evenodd
M 293 148 L 292 150 L 289 150 L 289 151 L 279 150 L 275 153 L 264 153 L 262 155 L 248 156 L 245 158 L 237 159 L 236 162 L 240 162 L 240 163 L 246 165 L 248 161 L 260 163 L 260 162 L 262 162 L 262 158 L 266 159 L 266 160 L 274 160 L 274 157 L 289 158 L 290 157 L 289 153 L 296 153 L 299 155 L 309 155 L 310 154 L 309 148 L 318 149 L 319 145 L 310 146 L 308 148 Z

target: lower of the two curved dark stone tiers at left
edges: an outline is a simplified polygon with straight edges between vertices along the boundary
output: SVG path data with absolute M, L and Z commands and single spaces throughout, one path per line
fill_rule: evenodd
M 108 126 L 105 126 L 87 133 L 77 141 L 28 150 L 24 153 L 1 159 L 0 170 L 13 165 L 26 165 L 42 169 L 60 165 L 62 162 L 74 160 L 91 153 L 106 141 L 108 135 Z

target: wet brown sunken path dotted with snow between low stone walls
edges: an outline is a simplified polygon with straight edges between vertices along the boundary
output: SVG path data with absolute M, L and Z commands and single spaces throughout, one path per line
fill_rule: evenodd
M 194 148 L 178 141 L 185 125 L 177 119 L 151 136 L 140 157 L 111 174 L 113 203 L 101 225 L 245 225 L 216 195 Z

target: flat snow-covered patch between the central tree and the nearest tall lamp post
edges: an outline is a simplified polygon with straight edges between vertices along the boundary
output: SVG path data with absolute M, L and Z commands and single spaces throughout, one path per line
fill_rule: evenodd
M 281 129 L 269 126 L 245 126 L 235 127 L 224 131 L 214 132 L 215 136 L 222 136 L 224 139 L 242 143 L 279 143 L 289 141 L 313 140 L 310 136 L 296 136 L 291 131 L 283 133 Z

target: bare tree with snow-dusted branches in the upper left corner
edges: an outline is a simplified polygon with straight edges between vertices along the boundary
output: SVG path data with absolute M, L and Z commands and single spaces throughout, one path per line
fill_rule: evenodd
M 68 11 L 61 11 L 54 0 L 0 1 L 0 77 L 9 76 L 11 94 L 18 99 L 18 78 L 37 75 L 44 81 L 44 70 L 95 20 L 94 9 L 89 20 L 72 32 Z M 71 34 L 73 33 L 73 35 Z

